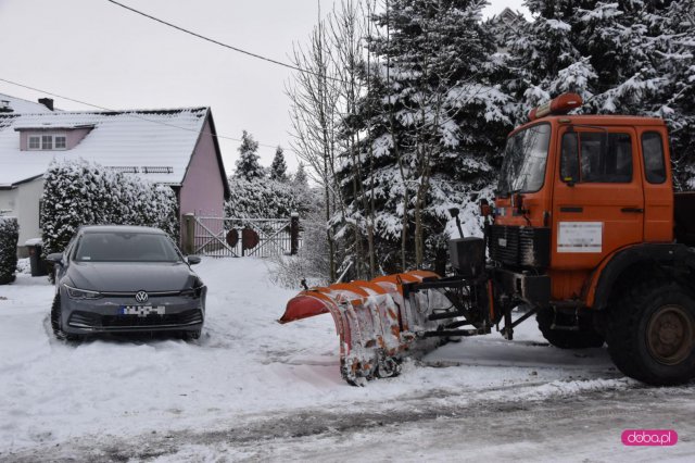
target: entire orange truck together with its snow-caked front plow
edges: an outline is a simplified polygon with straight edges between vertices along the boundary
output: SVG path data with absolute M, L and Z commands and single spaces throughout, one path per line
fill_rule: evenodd
M 352 385 L 393 376 L 405 356 L 451 337 L 496 327 L 511 339 L 532 315 L 553 346 L 606 342 L 628 376 L 691 380 L 695 192 L 673 192 L 664 121 L 568 114 L 581 105 L 561 95 L 508 136 L 494 207 L 480 204 L 484 238 L 450 241 L 454 275 L 311 288 L 280 323 L 330 313 Z M 514 320 L 518 305 L 529 311 Z

